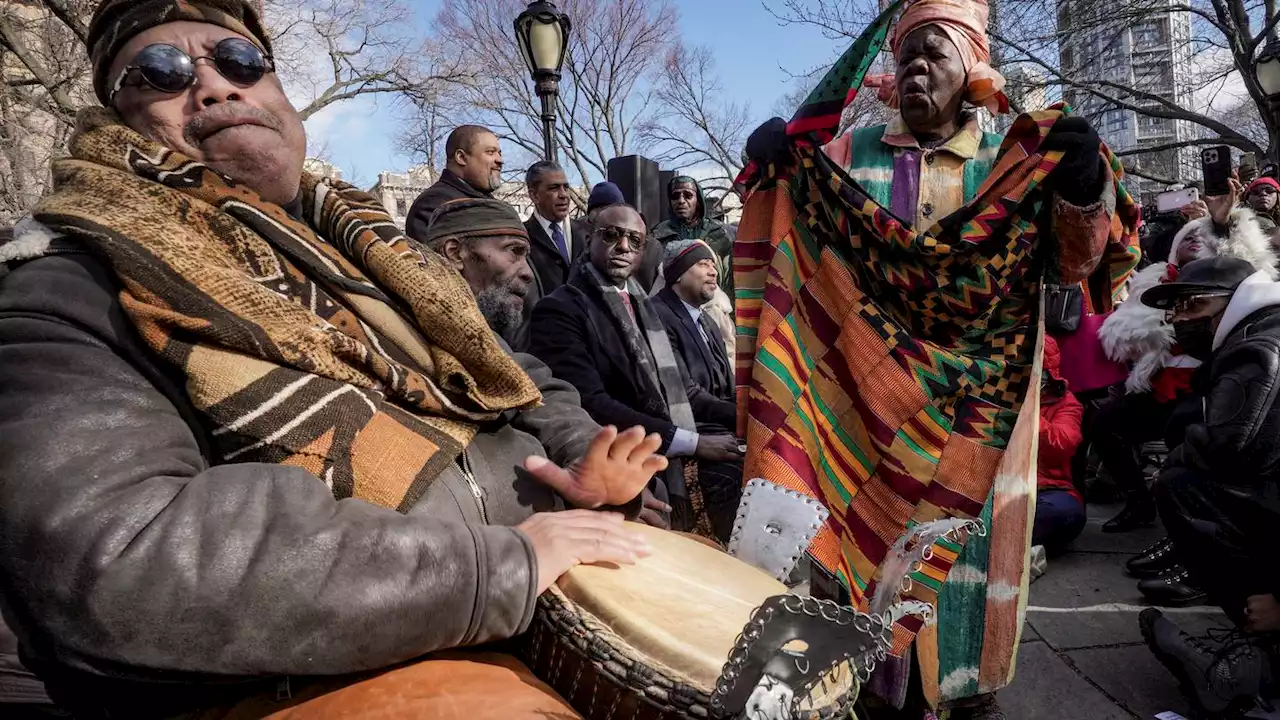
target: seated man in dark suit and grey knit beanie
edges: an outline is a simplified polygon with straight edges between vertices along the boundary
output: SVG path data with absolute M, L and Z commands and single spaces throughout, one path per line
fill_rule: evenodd
M 667 287 L 654 295 L 654 307 L 689 377 L 707 392 L 733 402 L 733 368 L 724 354 L 724 338 L 701 309 L 716 297 L 716 251 L 700 240 L 677 240 L 666 252 L 662 274 Z

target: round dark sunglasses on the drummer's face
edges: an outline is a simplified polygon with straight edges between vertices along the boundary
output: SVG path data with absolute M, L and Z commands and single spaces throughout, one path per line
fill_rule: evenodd
M 110 100 L 115 100 L 115 94 L 127 85 L 141 87 L 146 83 L 160 92 L 182 92 L 196 82 L 196 63 L 200 60 L 212 61 L 219 74 L 244 86 L 253 85 L 275 70 L 271 58 L 242 37 L 228 37 L 219 42 L 214 46 L 214 54 L 207 58 L 192 58 L 173 45 L 147 45 L 133 58 L 133 64 L 120 72 Z M 141 81 L 127 83 L 134 70 Z

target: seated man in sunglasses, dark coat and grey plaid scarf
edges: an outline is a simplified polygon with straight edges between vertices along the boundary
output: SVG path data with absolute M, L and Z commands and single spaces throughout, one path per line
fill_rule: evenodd
M 669 498 L 673 525 L 727 539 L 742 493 L 736 407 L 692 382 L 631 277 L 645 242 L 634 208 L 599 210 L 586 261 L 534 309 L 529 350 L 577 388 L 595 421 L 658 433 L 672 462 L 654 495 Z M 696 473 L 682 460 L 696 460 Z

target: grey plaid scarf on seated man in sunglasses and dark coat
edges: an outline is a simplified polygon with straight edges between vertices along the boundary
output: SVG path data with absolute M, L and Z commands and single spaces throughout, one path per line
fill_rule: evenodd
M 618 322 L 622 338 L 627 343 L 627 352 L 640 366 L 641 377 L 649 383 L 650 392 L 646 395 L 662 397 L 666 401 L 663 407 L 645 410 L 650 414 L 662 411 L 677 428 L 698 432 L 694 409 L 689 405 L 689 392 L 685 389 L 685 379 L 680 374 L 680 365 L 676 364 L 676 352 L 671 348 L 671 338 L 667 337 L 667 328 L 662 324 L 662 319 L 649 305 L 644 288 L 635 278 L 627 278 L 626 288 L 618 290 L 590 263 L 582 264 L 582 272 L 604 299 L 613 319 Z M 622 297 L 623 292 L 627 295 L 626 300 Z M 627 310 L 628 302 L 631 310 Z

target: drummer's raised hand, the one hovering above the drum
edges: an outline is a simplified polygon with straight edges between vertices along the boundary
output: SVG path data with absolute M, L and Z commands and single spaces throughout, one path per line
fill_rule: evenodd
M 649 478 L 667 469 L 667 459 L 655 455 L 660 446 L 660 436 L 645 437 L 639 425 L 622 433 L 608 425 L 567 469 L 536 455 L 525 459 L 525 469 L 575 507 L 626 505 Z

